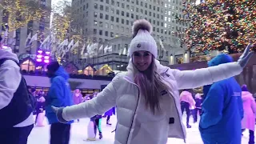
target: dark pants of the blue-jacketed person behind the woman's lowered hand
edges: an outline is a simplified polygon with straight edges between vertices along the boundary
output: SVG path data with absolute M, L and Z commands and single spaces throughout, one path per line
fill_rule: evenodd
M 70 124 L 53 123 L 50 126 L 50 144 L 69 144 Z

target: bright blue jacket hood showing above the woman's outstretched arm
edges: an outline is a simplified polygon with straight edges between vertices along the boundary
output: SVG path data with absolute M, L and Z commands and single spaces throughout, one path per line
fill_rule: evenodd
M 220 64 L 228 63 L 228 62 L 233 62 L 233 58 L 230 57 L 230 55 L 219 54 L 218 56 L 210 60 L 210 62 L 208 62 L 207 64 L 208 66 L 218 66 Z

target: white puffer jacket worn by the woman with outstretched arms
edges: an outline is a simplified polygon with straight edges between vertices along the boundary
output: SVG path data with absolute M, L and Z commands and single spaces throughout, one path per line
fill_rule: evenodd
M 148 122 L 144 120 L 144 123 L 136 126 L 138 111 L 141 111 L 143 107 L 140 104 L 142 96 L 138 86 L 134 83 L 132 62 L 127 67 L 128 72 L 118 74 L 98 94 L 97 98 L 64 108 L 62 117 L 67 121 L 90 118 L 117 106 L 118 124 L 114 144 L 166 144 L 167 137 L 182 138 L 185 141 L 186 130 L 182 124 L 178 90 L 209 85 L 242 72 L 242 67 L 238 65 L 238 62 L 185 71 L 162 66 L 157 60 L 155 63 L 158 74 L 162 76 L 164 83 L 168 86 L 168 90 L 164 90 L 164 94 L 169 97 L 166 101 L 161 101 L 161 105 L 170 107 L 170 109 L 164 110 L 161 118 L 158 118 L 158 114 L 156 114 L 155 118 L 152 118 L 154 120 L 148 119 Z M 158 134 L 159 131 L 161 134 Z

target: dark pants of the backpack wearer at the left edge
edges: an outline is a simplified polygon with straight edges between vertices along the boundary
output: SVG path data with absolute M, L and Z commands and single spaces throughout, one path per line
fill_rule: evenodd
M 1 144 L 26 144 L 34 125 L 25 127 L 0 128 Z

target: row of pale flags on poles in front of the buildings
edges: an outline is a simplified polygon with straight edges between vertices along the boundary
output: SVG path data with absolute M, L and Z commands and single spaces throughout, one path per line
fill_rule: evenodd
M 16 30 L 8 33 L 8 29 L 6 29 L 4 33 L 4 38 L 7 39 L 8 45 L 15 45 L 16 43 Z M 10 36 L 10 37 L 9 37 Z M 9 37 L 9 38 L 8 38 Z M 26 47 L 31 46 L 32 42 L 38 40 L 38 33 L 34 34 L 28 34 L 26 38 Z M 39 46 L 39 49 L 41 50 L 49 50 L 51 51 L 51 54 L 56 54 L 56 56 L 63 58 L 67 52 L 75 50 L 79 46 L 79 43 L 82 42 L 74 42 L 74 39 L 72 39 L 69 42 L 69 39 L 66 38 L 63 42 L 60 42 L 53 34 L 48 35 Z M 163 46 L 161 38 L 159 38 L 159 44 L 161 46 L 161 49 L 166 51 L 165 47 Z M 92 44 L 83 44 L 82 50 L 81 50 L 81 58 L 93 58 L 97 56 L 98 54 L 106 54 L 108 52 L 112 52 L 112 46 L 99 46 L 99 43 L 92 43 Z M 128 48 L 123 47 L 119 49 L 119 55 L 127 55 L 128 57 Z

